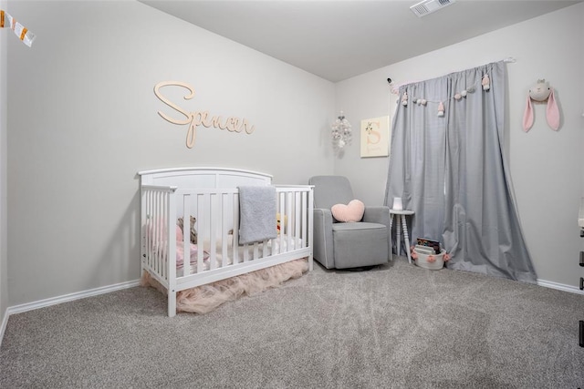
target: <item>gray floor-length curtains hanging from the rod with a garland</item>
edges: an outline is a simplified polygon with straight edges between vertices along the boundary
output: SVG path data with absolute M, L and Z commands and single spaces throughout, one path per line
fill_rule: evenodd
M 385 204 L 414 210 L 412 242 L 441 241 L 449 268 L 536 282 L 503 153 L 505 97 L 503 61 L 401 87 Z

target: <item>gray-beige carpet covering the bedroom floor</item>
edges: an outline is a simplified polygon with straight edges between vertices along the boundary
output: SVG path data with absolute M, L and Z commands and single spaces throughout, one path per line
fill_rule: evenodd
M 403 258 L 214 312 L 136 287 L 10 317 L 2 388 L 578 388 L 584 296 Z

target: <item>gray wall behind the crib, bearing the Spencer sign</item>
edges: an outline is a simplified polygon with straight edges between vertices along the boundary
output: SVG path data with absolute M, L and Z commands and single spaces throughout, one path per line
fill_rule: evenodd
M 9 305 L 140 277 L 141 169 L 332 173 L 332 83 L 134 1 L 9 6 L 36 34 L 32 48 L 8 39 Z M 186 110 L 255 132 L 202 128 L 186 148 L 186 126 L 157 114 L 180 118 L 154 96 L 167 80 L 195 88 L 175 94 Z

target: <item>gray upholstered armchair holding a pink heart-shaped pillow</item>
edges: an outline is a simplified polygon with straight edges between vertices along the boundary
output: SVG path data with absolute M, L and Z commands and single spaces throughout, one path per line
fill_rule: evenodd
M 390 257 L 390 209 L 365 207 L 359 222 L 335 220 L 331 208 L 354 200 L 349 179 L 316 176 L 314 185 L 314 259 L 327 269 L 347 269 L 379 265 Z

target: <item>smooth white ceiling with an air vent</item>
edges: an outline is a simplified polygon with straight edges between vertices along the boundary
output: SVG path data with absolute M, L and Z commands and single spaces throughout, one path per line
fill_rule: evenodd
M 333 82 L 581 2 L 456 0 L 419 18 L 419 0 L 139 1 Z

